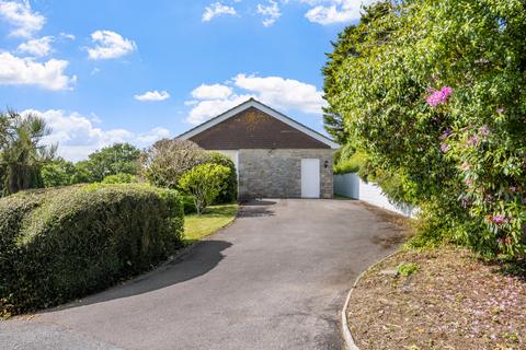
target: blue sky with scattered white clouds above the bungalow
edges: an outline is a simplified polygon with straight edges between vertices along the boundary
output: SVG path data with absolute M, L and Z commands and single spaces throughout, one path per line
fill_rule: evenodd
M 254 97 L 323 132 L 325 52 L 370 0 L 0 0 L 0 110 L 70 161 Z

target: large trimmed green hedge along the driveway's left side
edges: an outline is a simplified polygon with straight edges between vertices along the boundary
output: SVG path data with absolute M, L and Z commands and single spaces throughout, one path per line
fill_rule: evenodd
M 182 245 L 176 191 L 82 185 L 0 200 L 0 316 L 49 307 L 150 269 Z

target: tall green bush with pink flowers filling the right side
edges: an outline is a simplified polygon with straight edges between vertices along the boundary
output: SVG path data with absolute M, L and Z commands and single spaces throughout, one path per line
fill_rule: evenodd
M 424 236 L 526 257 L 525 2 L 378 5 L 331 73 L 347 138 L 423 208 Z

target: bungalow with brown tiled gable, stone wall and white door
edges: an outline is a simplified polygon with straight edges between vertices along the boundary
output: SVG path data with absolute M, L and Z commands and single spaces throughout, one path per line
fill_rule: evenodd
M 180 135 L 228 155 L 239 198 L 332 198 L 333 150 L 323 135 L 253 98 Z

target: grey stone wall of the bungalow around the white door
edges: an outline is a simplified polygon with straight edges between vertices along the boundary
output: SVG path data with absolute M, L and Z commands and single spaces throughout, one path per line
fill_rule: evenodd
M 333 150 L 239 150 L 239 197 L 301 197 L 301 159 L 320 160 L 320 197 L 333 197 Z

